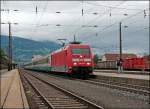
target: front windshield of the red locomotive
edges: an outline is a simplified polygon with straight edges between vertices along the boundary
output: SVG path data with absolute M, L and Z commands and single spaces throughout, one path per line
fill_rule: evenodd
M 89 55 L 90 54 L 90 49 L 89 48 L 73 48 L 72 49 L 72 54 L 85 54 L 85 55 Z

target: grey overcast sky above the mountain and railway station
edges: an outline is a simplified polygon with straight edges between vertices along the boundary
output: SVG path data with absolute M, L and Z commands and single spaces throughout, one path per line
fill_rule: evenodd
M 149 52 L 148 1 L 1 1 L 1 9 L 9 9 L 1 11 L 1 22 L 18 23 L 13 36 L 57 42 L 76 35 L 99 54 L 118 52 L 122 21 L 123 52 Z M 8 25 L 1 27 L 8 35 Z

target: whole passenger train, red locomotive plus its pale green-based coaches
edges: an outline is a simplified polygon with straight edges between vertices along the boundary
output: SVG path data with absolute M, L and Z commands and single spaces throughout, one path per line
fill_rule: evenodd
M 93 75 L 94 61 L 91 47 L 86 44 L 68 44 L 50 55 L 32 59 L 25 69 L 63 73 L 67 75 Z

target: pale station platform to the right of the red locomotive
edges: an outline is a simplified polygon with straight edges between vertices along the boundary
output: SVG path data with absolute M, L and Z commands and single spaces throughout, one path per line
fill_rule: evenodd
M 106 73 L 103 71 L 96 71 L 93 73 L 96 75 L 97 79 L 105 79 L 108 81 L 123 82 L 127 84 L 149 86 L 150 75 L 140 75 L 140 74 L 125 74 L 125 73 Z

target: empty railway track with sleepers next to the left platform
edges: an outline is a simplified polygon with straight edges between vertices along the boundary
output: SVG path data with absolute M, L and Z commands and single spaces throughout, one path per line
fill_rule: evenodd
M 39 78 L 30 73 L 22 73 L 26 83 L 30 85 L 32 90 L 36 93 L 37 104 L 39 108 L 52 109 L 103 109 L 78 95 L 75 95 L 53 83 L 49 83 L 44 78 Z

